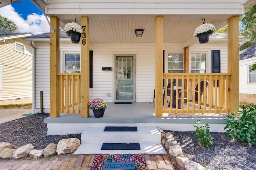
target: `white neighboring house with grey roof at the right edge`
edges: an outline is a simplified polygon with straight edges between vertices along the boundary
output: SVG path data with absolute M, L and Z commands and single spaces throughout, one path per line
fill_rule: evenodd
M 250 70 L 256 62 L 256 45 L 240 51 L 239 97 L 240 102 L 256 103 L 256 70 Z

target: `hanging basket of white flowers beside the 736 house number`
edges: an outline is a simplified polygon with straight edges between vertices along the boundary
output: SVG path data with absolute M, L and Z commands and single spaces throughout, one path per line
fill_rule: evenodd
M 67 23 L 63 30 L 70 37 L 72 43 L 79 43 L 83 31 L 80 25 L 75 22 Z

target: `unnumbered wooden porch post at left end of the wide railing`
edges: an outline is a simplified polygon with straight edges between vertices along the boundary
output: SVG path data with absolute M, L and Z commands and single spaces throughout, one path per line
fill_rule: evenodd
M 156 102 L 155 116 L 163 117 L 163 16 L 156 16 Z

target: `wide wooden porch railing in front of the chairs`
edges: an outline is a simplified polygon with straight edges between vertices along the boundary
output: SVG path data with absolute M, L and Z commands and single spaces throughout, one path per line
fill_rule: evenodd
M 168 90 L 163 94 L 163 113 L 227 113 L 230 75 L 164 73 L 164 86 L 167 87 L 168 83 L 171 86 L 170 98 L 167 99 Z M 173 90 L 173 82 L 176 82 L 177 90 Z M 169 101 L 170 107 L 168 107 Z

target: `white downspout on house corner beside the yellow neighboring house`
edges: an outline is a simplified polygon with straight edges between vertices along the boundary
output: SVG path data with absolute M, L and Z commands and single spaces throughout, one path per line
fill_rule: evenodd
M 31 47 L 33 48 L 32 51 L 32 56 L 33 56 L 33 60 L 32 60 L 32 70 L 33 70 L 33 74 L 32 74 L 32 114 L 35 113 L 35 105 L 36 105 L 36 55 L 35 55 L 35 51 L 36 51 L 36 47 L 32 44 L 32 41 L 29 41 L 29 44 L 31 45 Z

